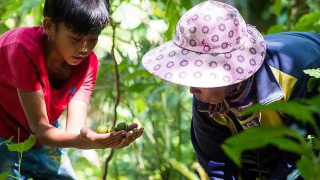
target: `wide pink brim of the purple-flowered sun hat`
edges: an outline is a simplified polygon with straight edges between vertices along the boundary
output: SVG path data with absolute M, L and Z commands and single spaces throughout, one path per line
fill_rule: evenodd
M 221 87 L 235 84 L 258 70 L 266 51 L 260 32 L 250 24 L 246 27 L 247 40 L 231 52 L 198 53 L 170 40 L 145 53 L 142 65 L 153 75 L 181 85 Z

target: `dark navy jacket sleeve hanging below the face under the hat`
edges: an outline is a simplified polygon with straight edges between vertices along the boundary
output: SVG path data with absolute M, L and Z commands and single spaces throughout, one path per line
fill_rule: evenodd
M 197 110 L 193 96 L 191 141 L 199 163 L 210 179 L 237 179 L 237 166 L 224 154 L 220 145 L 230 136 L 226 125 L 214 121 L 206 112 Z

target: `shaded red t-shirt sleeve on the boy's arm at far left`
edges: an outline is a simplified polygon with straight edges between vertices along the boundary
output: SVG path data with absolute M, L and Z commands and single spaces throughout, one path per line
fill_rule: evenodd
M 7 68 L 2 71 L 2 76 L 14 87 L 35 91 L 41 89 L 37 66 L 30 59 L 19 42 L 8 44 L 5 48 Z

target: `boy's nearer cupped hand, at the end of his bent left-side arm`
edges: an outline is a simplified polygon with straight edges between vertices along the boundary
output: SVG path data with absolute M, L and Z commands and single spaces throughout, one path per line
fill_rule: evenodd
M 107 147 L 112 147 L 114 144 L 121 142 L 121 139 L 124 138 L 126 132 L 120 130 L 118 132 L 102 133 L 98 134 L 90 128 L 83 127 L 80 130 L 80 143 L 79 148 L 83 149 L 92 149 L 99 148 L 104 149 Z M 124 138 L 125 139 L 125 138 Z

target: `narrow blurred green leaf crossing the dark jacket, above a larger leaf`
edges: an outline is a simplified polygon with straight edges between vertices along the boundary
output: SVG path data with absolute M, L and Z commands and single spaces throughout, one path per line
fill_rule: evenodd
M 267 105 L 256 104 L 248 107 L 243 111 L 243 114 L 250 114 L 256 110 L 275 110 L 284 111 L 285 113 L 291 115 L 297 120 L 301 120 L 303 123 L 309 122 L 314 124 L 314 117 L 312 116 L 313 110 L 297 101 L 275 101 Z

